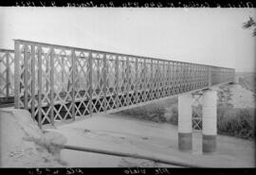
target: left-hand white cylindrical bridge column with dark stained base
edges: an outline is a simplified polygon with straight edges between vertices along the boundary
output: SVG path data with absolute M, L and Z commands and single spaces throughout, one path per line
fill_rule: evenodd
M 192 150 L 192 94 L 178 96 L 178 149 Z

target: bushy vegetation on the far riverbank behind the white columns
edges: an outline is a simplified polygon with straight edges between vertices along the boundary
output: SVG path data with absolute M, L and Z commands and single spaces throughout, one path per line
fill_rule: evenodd
M 226 90 L 225 90 L 226 91 Z M 229 90 L 227 90 L 229 91 Z M 224 96 L 219 93 L 218 96 Z M 167 111 L 166 108 L 171 109 Z M 201 117 L 202 106 L 192 108 L 193 117 Z M 122 115 L 129 115 L 143 120 L 157 123 L 170 123 L 177 125 L 178 110 L 177 99 L 167 100 L 161 103 L 152 103 L 129 110 L 119 112 Z M 168 115 L 169 114 L 169 115 Z M 255 109 L 233 108 L 229 103 L 220 103 L 217 108 L 217 131 L 219 134 L 236 136 L 245 139 L 255 138 Z

